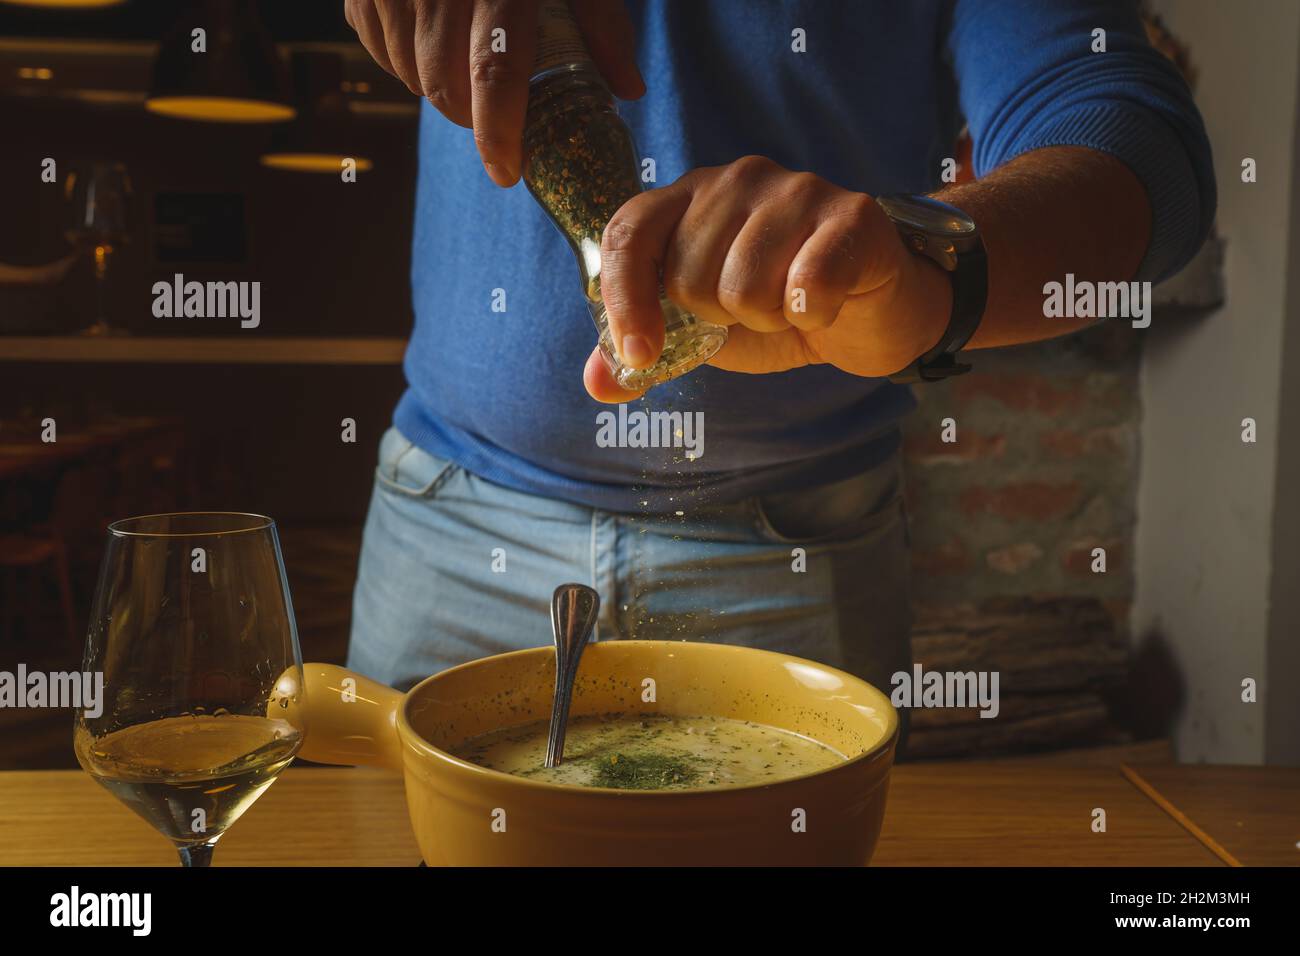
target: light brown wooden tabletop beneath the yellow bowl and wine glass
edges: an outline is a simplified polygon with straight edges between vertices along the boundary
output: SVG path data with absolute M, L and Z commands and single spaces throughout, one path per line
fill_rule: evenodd
M 1020 761 L 900 766 L 874 864 L 1226 865 L 1204 834 L 1245 865 L 1300 864 L 1300 770 L 1171 765 L 1138 774 Z M 1154 796 L 1144 790 L 1153 780 Z M 1092 830 L 1095 808 L 1106 812 L 1105 832 Z M 415 866 L 420 853 L 398 775 L 292 767 L 221 839 L 216 861 Z M 86 774 L 0 774 L 0 865 L 174 864 L 168 843 Z

